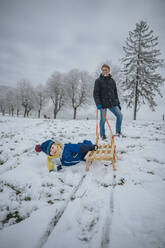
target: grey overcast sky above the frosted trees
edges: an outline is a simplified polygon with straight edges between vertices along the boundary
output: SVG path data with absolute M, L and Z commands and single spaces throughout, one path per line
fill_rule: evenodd
M 165 58 L 165 0 L 0 0 L 0 84 L 37 85 L 59 70 L 119 64 L 130 30 L 147 21 Z

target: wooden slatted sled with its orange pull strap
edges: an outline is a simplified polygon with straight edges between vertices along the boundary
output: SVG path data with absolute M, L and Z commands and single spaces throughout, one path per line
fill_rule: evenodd
M 96 145 L 98 145 L 98 150 L 96 151 L 89 151 L 87 155 L 85 156 L 86 160 L 86 171 L 89 170 L 89 162 L 93 162 L 95 160 L 106 160 L 112 162 L 113 170 L 116 170 L 115 162 L 116 162 L 116 145 L 114 143 L 114 136 L 112 134 L 112 129 L 108 123 L 108 120 L 106 118 L 106 115 L 104 113 L 104 110 L 102 109 L 104 118 L 108 124 L 108 127 L 110 129 L 110 144 L 102 144 L 99 145 L 99 135 L 98 135 L 98 109 L 96 112 Z

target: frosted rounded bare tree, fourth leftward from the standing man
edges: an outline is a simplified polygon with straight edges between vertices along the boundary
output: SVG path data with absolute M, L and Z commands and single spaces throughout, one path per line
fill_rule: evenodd
M 24 117 L 28 117 L 30 111 L 34 108 L 35 94 L 30 82 L 26 79 L 18 82 L 19 95 L 21 98 L 21 105 L 24 108 Z

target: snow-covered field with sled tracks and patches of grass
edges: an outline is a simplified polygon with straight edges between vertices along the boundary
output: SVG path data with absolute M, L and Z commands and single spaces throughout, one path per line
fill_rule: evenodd
M 1 248 L 165 247 L 163 122 L 123 122 L 116 172 L 106 161 L 49 173 L 34 151 L 46 139 L 95 142 L 95 121 L 0 117 L 0 131 Z

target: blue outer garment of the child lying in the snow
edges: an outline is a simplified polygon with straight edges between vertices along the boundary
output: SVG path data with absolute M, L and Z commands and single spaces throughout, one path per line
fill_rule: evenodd
M 62 153 L 62 165 L 70 166 L 84 160 L 88 151 L 95 149 L 95 145 L 90 140 L 84 140 L 83 143 L 65 144 Z

